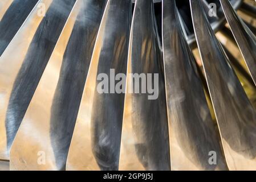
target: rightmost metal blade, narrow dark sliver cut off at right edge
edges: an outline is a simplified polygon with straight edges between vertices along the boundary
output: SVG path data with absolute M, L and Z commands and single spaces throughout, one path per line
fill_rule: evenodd
M 256 36 L 237 15 L 227 0 L 220 0 L 234 38 L 256 85 Z

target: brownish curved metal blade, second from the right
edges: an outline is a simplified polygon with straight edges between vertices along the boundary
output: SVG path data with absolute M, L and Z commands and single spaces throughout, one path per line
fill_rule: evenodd
M 202 10 L 190 0 L 193 26 L 221 133 L 227 166 L 256 169 L 256 113 Z

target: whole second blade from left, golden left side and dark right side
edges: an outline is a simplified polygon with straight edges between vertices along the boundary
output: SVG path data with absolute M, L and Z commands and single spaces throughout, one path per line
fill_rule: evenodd
M 0 159 L 9 159 L 11 144 L 75 0 L 40 2 L 46 7 L 45 16 L 34 9 L 0 58 L 0 64 L 7 65 L 0 68 Z

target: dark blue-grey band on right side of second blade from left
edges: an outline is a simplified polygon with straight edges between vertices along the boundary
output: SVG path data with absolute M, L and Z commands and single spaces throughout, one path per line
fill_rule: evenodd
M 46 16 L 35 32 L 25 60 L 23 60 L 21 69 L 15 78 L 9 100 L 5 121 L 8 148 L 13 142 L 74 3 L 75 0 L 52 1 Z M 57 7 L 58 10 L 56 11 Z

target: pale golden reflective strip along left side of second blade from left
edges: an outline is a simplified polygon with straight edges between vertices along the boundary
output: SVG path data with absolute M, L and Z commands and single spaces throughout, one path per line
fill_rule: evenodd
M 39 2 L 44 3 L 46 10 L 51 3 L 51 1 L 47 0 L 40 0 Z M 38 9 L 32 11 L 17 36 L 14 37 L 13 41 L 0 57 L 0 64 L 6 65 L 5 67 L 0 67 L 0 85 L 2 86 L 0 89 L 2 100 L 2 104 L 0 105 L 0 159 L 9 159 L 5 126 L 6 111 L 15 78 L 25 59 L 27 49 L 36 32 L 36 28 L 38 28 L 39 23 L 43 19 L 43 16 L 38 16 L 37 12 Z

